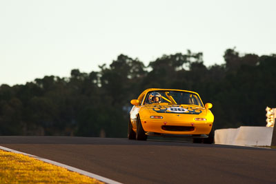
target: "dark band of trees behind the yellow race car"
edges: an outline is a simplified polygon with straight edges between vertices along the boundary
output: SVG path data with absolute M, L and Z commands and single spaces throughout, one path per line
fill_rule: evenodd
M 120 54 L 90 73 L 44 76 L 25 85 L 0 86 L 0 135 L 126 137 L 131 99 L 147 88 L 198 92 L 213 103 L 215 129 L 266 125 L 276 107 L 276 54 L 224 52 L 206 67 L 202 53 L 163 55 L 145 66 Z

